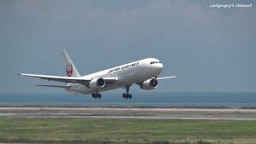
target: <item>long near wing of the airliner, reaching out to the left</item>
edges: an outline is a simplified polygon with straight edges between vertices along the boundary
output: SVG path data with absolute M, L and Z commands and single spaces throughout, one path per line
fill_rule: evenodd
M 41 74 L 18 74 L 26 77 L 42 78 L 48 81 L 57 81 L 65 83 L 80 83 L 82 85 L 88 85 L 92 78 L 82 78 L 82 77 L 62 77 L 53 75 L 41 75 Z M 118 78 L 103 78 L 108 83 L 114 83 L 118 81 Z

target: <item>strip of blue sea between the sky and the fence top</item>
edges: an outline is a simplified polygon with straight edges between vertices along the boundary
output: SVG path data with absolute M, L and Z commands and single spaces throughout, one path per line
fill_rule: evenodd
M 146 92 L 133 94 L 132 99 L 122 94 L 103 93 L 102 98 L 83 94 L 0 94 L 0 103 L 35 102 L 126 102 L 126 103 L 256 103 L 256 92 Z

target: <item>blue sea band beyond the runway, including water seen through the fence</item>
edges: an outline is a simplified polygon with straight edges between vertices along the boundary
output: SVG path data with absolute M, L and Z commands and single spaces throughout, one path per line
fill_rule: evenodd
M 0 106 L 256 107 L 256 92 L 142 92 L 133 98 L 106 93 L 0 94 Z

